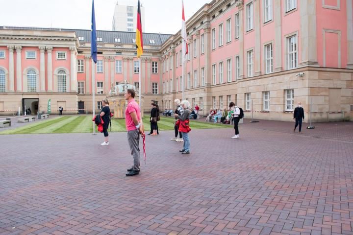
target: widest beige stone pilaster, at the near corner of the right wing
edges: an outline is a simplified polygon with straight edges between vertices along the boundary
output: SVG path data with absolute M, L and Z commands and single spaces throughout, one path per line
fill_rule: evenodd
M 300 67 L 319 67 L 316 51 L 316 0 L 300 0 L 301 61 Z

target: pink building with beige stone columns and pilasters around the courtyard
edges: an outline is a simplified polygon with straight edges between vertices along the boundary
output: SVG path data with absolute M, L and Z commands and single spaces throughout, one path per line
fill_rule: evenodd
M 180 31 L 144 34 L 145 100 L 173 108 L 184 84 L 203 114 L 233 101 L 248 118 L 291 120 L 302 102 L 312 121 L 353 119 L 352 0 L 213 0 L 186 27 L 184 83 Z M 111 84 L 138 82 L 133 39 L 98 32 L 97 109 Z M 91 68 L 89 30 L 0 28 L 0 115 L 26 99 L 42 111 L 51 99 L 54 111 L 92 112 Z

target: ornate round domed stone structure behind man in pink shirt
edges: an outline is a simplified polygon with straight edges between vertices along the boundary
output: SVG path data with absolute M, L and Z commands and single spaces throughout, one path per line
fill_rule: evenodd
M 139 91 L 138 87 L 135 87 L 131 84 L 124 83 L 114 86 L 111 84 L 110 92 L 106 96 L 109 101 L 109 107 L 111 110 L 114 110 L 114 118 L 125 118 L 125 109 L 127 101 L 125 100 L 125 91 L 127 89 L 133 89 L 136 92 L 135 100 L 139 104 Z M 141 96 L 141 102 L 144 103 L 144 97 Z

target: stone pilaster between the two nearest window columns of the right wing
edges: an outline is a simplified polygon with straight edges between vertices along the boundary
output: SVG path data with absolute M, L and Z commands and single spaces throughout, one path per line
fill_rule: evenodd
M 275 21 L 275 45 L 273 48 L 275 49 L 275 72 L 279 72 L 283 70 L 282 67 L 282 23 L 281 23 L 281 0 L 274 0 L 274 6 L 278 6 L 274 8 L 274 21 Z

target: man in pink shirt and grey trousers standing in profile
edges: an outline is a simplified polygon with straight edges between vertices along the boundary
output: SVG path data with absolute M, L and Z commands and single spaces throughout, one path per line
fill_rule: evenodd
M 135 91 L 127 89 L 125 99 L 127 107 L 125 111 L 125 125 L 127 130 L 127 141 L 130 146 L 131 155 L 134 158 L 133 166 L 127 169 L 126 176 L 137 175 L 140 172 L 140 134 L 142 134 L 142 121 L 140 117 L 140 106 L 135 101 Z

